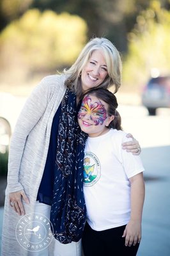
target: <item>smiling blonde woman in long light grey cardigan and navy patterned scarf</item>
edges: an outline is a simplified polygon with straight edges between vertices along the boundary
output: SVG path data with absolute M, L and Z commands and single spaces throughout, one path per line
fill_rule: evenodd
M 33 90 L 10 145 L 2 255 L 32 255 L 30 244 L 25 241 L 23 250 L 15 236 L 20 215 L 30 212 L 41 212 L 52 221 L 54 255 L 80 254 L 79 239 L 86 220 L 81 178 L 86 136 L 77 124 L 78 104 L 89 89 L 114 86 L 117 92 L 120 83 L 119 52 L 109 40 L 94 38 L 72 67 L 43 78 Z M 141 152 L 137 141 L 128 141 L 124 147 L 133 154 Z M 33 255 L 49 255 L 48 248 L 38 250 Z

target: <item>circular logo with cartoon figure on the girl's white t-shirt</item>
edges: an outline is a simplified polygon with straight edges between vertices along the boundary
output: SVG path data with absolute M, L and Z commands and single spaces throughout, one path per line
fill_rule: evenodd
M 101 168 L 98 157 L 92 152 L 84 154 L 84 186 L 93 186 L 100 179 Z

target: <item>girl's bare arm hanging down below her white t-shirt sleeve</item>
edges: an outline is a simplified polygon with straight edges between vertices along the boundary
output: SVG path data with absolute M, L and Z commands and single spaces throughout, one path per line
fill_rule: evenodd
M 123 232 L 125 246 L 135 245 L 141 241 L 141 221 L 144 203 L 143 173 L 138 173 L 130 178 L 131 184 L 131 214 L 130 221 Z

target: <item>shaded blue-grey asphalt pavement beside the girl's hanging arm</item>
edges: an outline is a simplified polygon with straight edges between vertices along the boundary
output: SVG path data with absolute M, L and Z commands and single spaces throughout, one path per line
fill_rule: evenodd
M 143 148 L 146 197 L 143 235 L 137 256 L 170 255 L 170 145 Z M 0 208 L 0 239 L 3 207 Z M 117 255 L 115 255 L 117 256 Z

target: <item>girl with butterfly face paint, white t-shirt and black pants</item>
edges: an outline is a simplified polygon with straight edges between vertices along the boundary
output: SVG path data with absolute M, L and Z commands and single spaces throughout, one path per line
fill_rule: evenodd
M 78 121 L 88 134 L 84 154 L 87 223 L 82 237 L 85 256 L 136 255 L 141 241 L 144 202 L 143 164 L 122 150 L 126 133 L 114 94 L 90 90 Z

